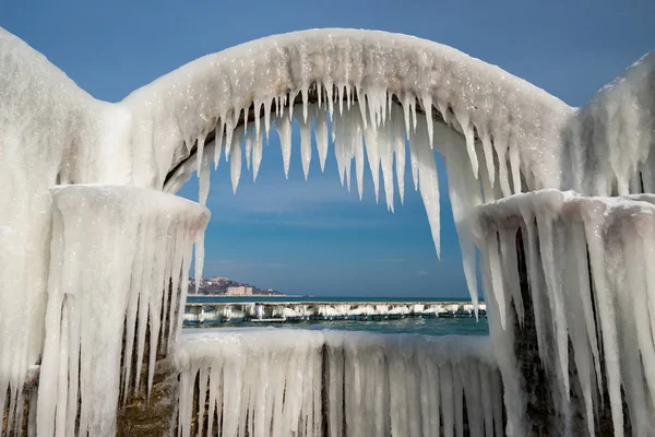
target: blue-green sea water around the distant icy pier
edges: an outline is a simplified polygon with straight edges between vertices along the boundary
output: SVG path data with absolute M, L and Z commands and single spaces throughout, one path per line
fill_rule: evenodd
M 462 302 L 469 299 L 462 297 L 370 297 L 370 296 L 189 296 L 188 303 L 224 303 L 224 304 L 247 304 L 247 303 L 344 303 L 344 302 L 366 302 L 366 303 L 441 303 L 441 302 Z M 187 326 L 191 328 L 191 326 Z M 199 324 L 193 324 L 199 328 Z M 486 317 L 476 320 L 475 317 L 407 317 L 388 320 L 308 320 L 294 322 L 219 322 L 206 323 L 202 327 L 211 328 L 253 328 L 253 327 L 274 327 L 291 329 L 330 329 L 344 331 L 368 331 L 377 333 L 410 333 L 421 335 L 488 335 L 489 326 Z

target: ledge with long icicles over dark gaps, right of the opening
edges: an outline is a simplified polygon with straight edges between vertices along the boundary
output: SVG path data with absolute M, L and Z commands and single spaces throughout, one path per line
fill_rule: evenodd
M 557 381 L 561 428 L 553 435 L 572 433 L 572 394 L 584 401 L 587 432 L 595 435 L 604 377 L 615 435 L 623 435 L 621 392 L 633 435 L 655 430 L 654 204 L 652 194 L 585 198 L 544 190 L 479 208 L 490 329 L 505 339 L 513 336 L 512 306 L 519 323 L 523 319 L 516 260 L 522 231 L 539 355 Z M 495 344 L 499 359 L 514 355 L 512 341 L 507 349 Z M 508 379 L 503 374 L 505 385 Z M 508 420 L 520 415 L 508 406 Z

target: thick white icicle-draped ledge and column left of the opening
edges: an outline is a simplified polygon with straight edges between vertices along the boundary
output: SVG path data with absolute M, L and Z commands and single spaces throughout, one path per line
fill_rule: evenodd
M 139 387 L 146 328 L 148 391 L 159 343 L 171 345 L 179 335 L 191 249 L 210 214 L 128 186 L 51 192 L 46 339 L 29 426 L 44 436 L 114 435 L 121 389 Z

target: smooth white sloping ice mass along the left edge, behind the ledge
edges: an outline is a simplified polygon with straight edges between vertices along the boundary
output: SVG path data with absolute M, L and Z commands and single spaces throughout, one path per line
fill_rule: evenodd
M 48 187 L 129 182 L 129 123 L 126 108 L 94 99 L 0 28 L 0 405 L 9 389 L 9 428 L 21 424 L 16 405 L 44 342 Z

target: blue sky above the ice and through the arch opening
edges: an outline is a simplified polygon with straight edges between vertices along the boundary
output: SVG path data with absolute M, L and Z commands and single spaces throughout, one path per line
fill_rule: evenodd
M 655 48 L 653 17 L 653 0 L 0 0 L 0 26 L 110 102 L 182 63 L 253 38 L 357 27 L 451 45 L 577 106 Z M 413 189 L 391 214 L 376 204 L 367 175 L 359 202 L 341 187 L 333 154 L 325 174 L 313 162 L 305 182 L 297 144 L 285 180 L 277 138 L 271 138 L 255 185 L 245 173 L 235 197 L 225 163 L 212 175 L 205 275 L 317 295 L 466 294 L 448 203 L 439 262 Z M 442 164 L 440 170 L 443 181 Z M 441 188 L 445 198 L 445 184 Z M 193 178 L 181 194 L 196 199 L 195 191 Z

